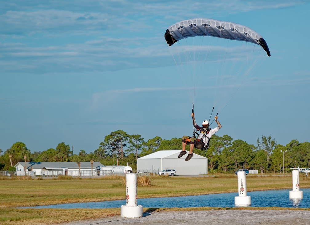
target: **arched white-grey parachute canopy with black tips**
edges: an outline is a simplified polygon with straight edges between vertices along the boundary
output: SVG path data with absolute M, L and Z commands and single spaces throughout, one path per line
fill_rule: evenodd
M 262 46 L 270 56 L 267 43 L 259 33 L 249 27 L 232 22 L 206 18 L 182 20 L 171 25 L 165 33 L 165 39 L 169 46 L 183 38 L 195 36 L 212 36 L 251 42 Z

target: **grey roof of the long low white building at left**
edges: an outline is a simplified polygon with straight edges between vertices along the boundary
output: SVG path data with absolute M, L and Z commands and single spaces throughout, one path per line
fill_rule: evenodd
M 21 166 L 25 166 L 25 162 L 18 162 L 14 167 L 16 167 L 18 164 Z M 100 162 L 94 162 L 93 168 L 96 168 L 97 166 L 102 166 Z M 33 168 L 33 169 L 42 169 L 43 167 L 66 167 L 66 168 L 78 168 L 78 164 L 76 162 L 27 162 L 26 163 L 27 168 Z M 81 162 L 80 168 L 91 168 L 90 162 Z

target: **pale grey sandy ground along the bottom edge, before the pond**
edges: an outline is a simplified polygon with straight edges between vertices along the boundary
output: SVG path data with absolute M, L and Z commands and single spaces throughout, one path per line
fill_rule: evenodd
M 303 210 L 207 210 L 183 212 L 144 213 L 141 218 L 113 216 L 62 223 L 62 225 L 148 225 L 148 224 L 193 224 L 193 225 L 241 225 L 241 224 L 281 224 L 310 225 L 310 211 Z

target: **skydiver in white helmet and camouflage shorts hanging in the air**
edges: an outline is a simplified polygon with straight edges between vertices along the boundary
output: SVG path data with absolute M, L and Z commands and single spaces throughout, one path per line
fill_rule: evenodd
M 193 117 L 193 126 L 198 130 L 200 130 L 200 134 L 198 136 L 198 138 L 196 139 L 195 135 L 193 135 L 193 137 L 189 137 L 189 136 L 183 136 L 182 137 L 182 152 L 180 152 L 178 158 L 181 158 L 182 156 L 184 156 L 186 154 L 185 151 L 185 147 L 187 144 L 189 144 L 189 153 L 185 159 L 185 161 L 190 160 L 193 157 L 193 149 L 197 148 L 197 149 L 207 149 L 209 146 L 209 141 L 212 135 L 215 134 L 215 132 L 219 131 L 219 129 L 221 129 L 222 125 L 219 123 L 219 121 L 217 120 L 217 117 L 214 117 L 215 122 L 217 123 L 217 127 L 215 127 L 214 129 L 210 129 L 209 128 L 209 121 L 204 120 L 202 122 L 202 127 L 198 126 L 196 124 L 195 121 L 195 114 L 192 113 L 192 117 Z

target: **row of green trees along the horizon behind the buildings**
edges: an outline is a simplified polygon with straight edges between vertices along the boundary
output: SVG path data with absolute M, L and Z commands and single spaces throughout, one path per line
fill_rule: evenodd
M 0 170 L 15 170 L 17 162 L 91 162 L 103 165 L 128 165 L 135 170 L 137 158 L 160 150 L 182 149 L 181 138 L 170 140 L 154 137 L 144 141 L 141 135 L 129 135 L 123 130 L 111 132 L 94 152 L 80 150 L 73 154 L 70 146 L 61 142 L 55 149 L 33 152 L 22 142 L 16 142 L 3 152 L 0 149 Z M 189 150 L 189 146 L 186 146 Z M 240 168 L 259 170 L 260 173 L 290 173 L 290 168 L 310 167 L 310 143 L 292 140 L 284 145 L 277 144 L 269 135 L 257 138 L 256 146 L 229 135 L 213 135 L 207 150 L 194 149 L 196 154 L 208 158 L 209 173 L 233 173 Z

